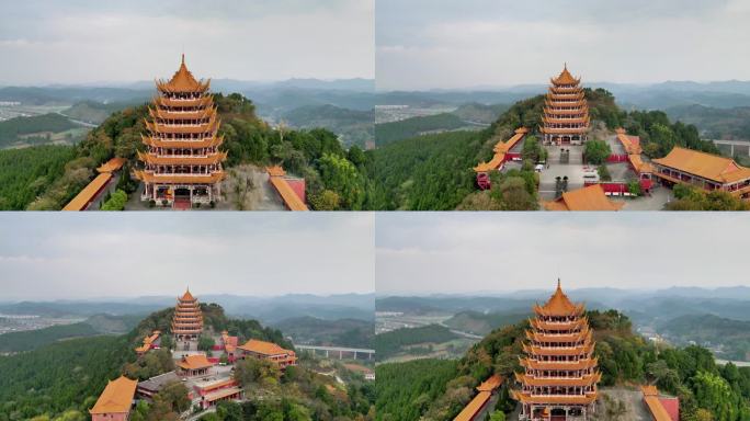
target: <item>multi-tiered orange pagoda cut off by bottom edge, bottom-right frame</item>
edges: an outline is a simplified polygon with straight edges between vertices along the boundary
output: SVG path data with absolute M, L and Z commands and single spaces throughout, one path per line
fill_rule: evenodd
M 513 392 L 521 403 L 520 420 L 583 421 L 593 412 L 601 373 L 583 310 L 562 293 L 559 280 L 549 300 L 534 306 L 536 317 L 521 359 L 524 372 L 515 374 L 521 385 Z

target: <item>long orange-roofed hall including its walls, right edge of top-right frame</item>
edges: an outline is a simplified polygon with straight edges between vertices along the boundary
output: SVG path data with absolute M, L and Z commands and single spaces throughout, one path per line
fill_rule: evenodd
M 750 196 L 750 168 L 730 158 L 675 146 L 651 163 L 654 175 L 663 184 L 686 184 L 708 192 L 719 190 L 742 198 Z

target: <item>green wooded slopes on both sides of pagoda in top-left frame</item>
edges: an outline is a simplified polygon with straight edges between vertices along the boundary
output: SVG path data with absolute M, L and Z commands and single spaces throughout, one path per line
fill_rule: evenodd
M 372 158 L 361 148 L 344 149 L 327 129 L 274 130 L 255 116 L 254 104 L 240 94 L 216 94 L 215 102 L 223 121 L 223 147 L 229 151 L 227 166 L 281 163 L 288 172 L 305 177 L 314 208 L 370 207 L 365 172 L 370 171 Z M 29 148 L 15 155 L 0 151 L 0 161 L 13 161 L 18 156 L 25 159 L 23 166 L 2 167 L 0 177 L 10 179 L 16 190 L 0 187 L 0 205 L 12 209 L 60 209 L 107 159 L 116 156 L 135 162 L 136 151 L 144 148 L 140 135 L 147 112 L 147 106 L 140 105 L 112 114 L 71 152 L 58 155 L 56 166 L 48 162 L 49 149 L 35 152 L 36 148 Z M 44 178 L 39 178 L 41 170 L 45 171 Z M 16 180 L 31 185 L 23 186 Z

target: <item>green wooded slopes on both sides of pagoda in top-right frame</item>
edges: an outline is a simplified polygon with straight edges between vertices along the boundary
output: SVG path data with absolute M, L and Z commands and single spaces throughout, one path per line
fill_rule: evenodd
M 584 93 L 595 127 L 610 132 L 625 127 L 628 133 L 640 136 L 644 152 L 651 158 L 663 157 L 674 146 L 718 153 L 713 143 L 701 140 L 695 126 L 671 123 L 660 111 L 622 111 L 612 93 L 604 89 L 586 89 Z M 490 160 L 495 144 L 507 140 L 521 126 L 532 130 L 522 157 L 533 162 L 539 150 L 536 130 L 543 109 L 544 95 L 537 95 L 516 102 L 485 130 L 419 136 L 376 149 L 372 175 L 375 193 L 371 195 L 374 208 L 536 209 L 532 168 L 524 166 L 519 173 L 495 180 L 491 192 L 477 192 L 471 169 L 480 161 Z

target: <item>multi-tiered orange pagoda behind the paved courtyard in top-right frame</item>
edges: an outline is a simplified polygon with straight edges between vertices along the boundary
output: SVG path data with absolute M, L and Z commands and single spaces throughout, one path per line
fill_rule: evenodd
M 589 105 L 583 95 L 581 79 L 573 78 L 566 65 L 557 78 L 550 79 L 544 101 L 544 117 L 539 130 L 549 145 L 581 145 L 590 128 Z

